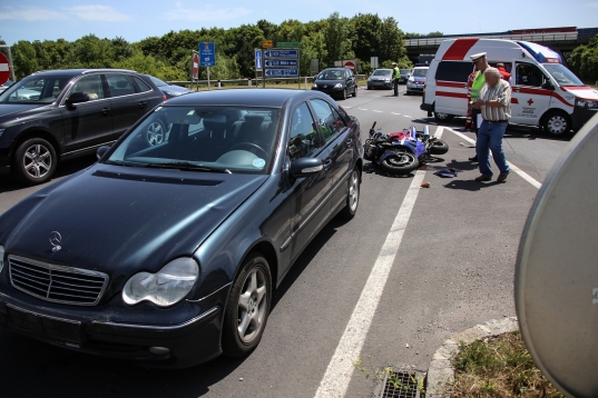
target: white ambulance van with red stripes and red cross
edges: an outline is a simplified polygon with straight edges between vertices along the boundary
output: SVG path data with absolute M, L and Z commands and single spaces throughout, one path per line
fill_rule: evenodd
M 444 40 L 430 64 L 421 109 L 438 120 L 467 116 L 471 54 L 504 63 L 511 73 L 511 122 L 540 126 L 551 135 L 577 131 L 598 112 L 598 91 L 587 87 L 551 49 L 527 41 Z

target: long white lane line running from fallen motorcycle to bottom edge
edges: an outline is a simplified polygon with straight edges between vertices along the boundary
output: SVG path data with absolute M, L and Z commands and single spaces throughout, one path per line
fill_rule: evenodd
M 353 374 L 353 361 L 360 356 L 363 342 L 372 325 L 372 319 L 384 291 L 394 258 L 401 246 L 401 240 L 403 239 L 411 211 L 415 205 L 415 199 L 418 199 L 418 193 L 421 191 L 420 186 L 424 175 L 425 171 L 418 170 L 409 186 L 409 190 L 399 208 L 386 240 L 382 245 L 370 277 L 361 291 L 361 296 L 353 309 L 351 319 L 349 319 L 341 341 L 339 341 L 334 356 L 315 392 L 315 398 L 340 398 L 344 397 L 346 392 Z

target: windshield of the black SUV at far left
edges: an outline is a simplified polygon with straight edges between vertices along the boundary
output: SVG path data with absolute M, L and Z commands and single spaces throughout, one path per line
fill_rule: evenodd
M 0 103 L 51 103 L 67 86 L 70 77 L 29 77 L 0 93 Z

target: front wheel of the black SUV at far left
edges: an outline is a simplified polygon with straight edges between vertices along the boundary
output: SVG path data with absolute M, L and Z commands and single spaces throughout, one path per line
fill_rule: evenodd
M 26 183 L 43 183 L 52 177 L 56 161 L 56 150 L 50 142 L 42 138 L 31 138 L 17 148 L 12 175 Z

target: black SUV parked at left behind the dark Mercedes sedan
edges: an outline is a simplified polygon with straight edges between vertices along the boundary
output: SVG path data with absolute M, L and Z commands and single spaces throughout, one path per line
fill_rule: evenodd
M 0 167 L 10 167 L 22 182 L 46 182 L 59 159 L 116 141 L 164 100 L 149 79 L 131 70 L 67 69 L 28 76 L 0 93 Z M 165 133 L 164 126 L 150 126 L 147 139 L 157 141 Z

